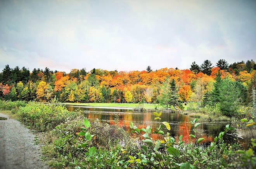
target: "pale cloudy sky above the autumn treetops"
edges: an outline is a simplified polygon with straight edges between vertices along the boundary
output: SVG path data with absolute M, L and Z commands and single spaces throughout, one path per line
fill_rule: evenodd
M 0 70 L 189 69 L 256 60 L 256 1 L 0 0 Z

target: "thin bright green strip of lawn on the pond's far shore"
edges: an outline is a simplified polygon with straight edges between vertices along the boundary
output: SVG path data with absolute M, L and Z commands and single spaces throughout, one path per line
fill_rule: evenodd
M 104 106 L 104 107 L 137 107 L 139 106 L 138 103 L 62 103 L 62 104 L 69 104 L 69 105 L 82 105 L 82 106 Z M 155 109 L 155 106 L 157 104 L 154 103 L 145 103 L 144 108 L 145 109 Z M 142 104 L 140 104 L 142 107 Z

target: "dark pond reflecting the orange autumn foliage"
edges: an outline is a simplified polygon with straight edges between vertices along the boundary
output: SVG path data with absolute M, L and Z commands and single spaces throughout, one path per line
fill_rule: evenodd
M 154 120 L 155 116 L 153 112 L 138 112 L 133 108 L 120 108 L 120 107 L 94 107 L 94 106 L 79 106 L 79 105 L 66 105 L 67 110 L 75 111 L 80 110 L 85 117 L 95 120 L 99 119 L 100 122 L 107 122 L 109 124 L 117 124 L 119 127 L 123 127 L 124 130 L 130 129 L 130 122 L 132 121 L 137 128 L 146 128 L 148 125 L 152 128 L 152 131 L 159 127 L 161 122 L 170 123 L 171 130 L 168 131 L 165 127 L 163 130 L 165 133 L 169 132 L 171 136 L 178 137 L 183 135 L 183 140 L 186 142 L 189 140 L 189 135 L 193 134 L 193 125 L 190 121 L 191 118 L 187 115 L 178 113 L 162 113 L 161 120 Z M 198 120 L 201 123 L 197 127 L 196 137 L 202 137 L 205 140 L 203 142 L 212 142 L 214 137 L 224 130 L 225 125 L 228 122 L 210 121 L 210 120 Z M 161 135 L 152 134 L 153 139 L 159 139 Z M 226 135 L 225 140 L 233 142 L 238 137 L 232 135 Z

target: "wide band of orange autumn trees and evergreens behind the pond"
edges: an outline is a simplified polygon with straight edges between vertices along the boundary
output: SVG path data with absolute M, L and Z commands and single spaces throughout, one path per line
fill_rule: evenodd
M 12 69 L 6 65 L 0 73 L 0 97 L 25 101 L 57 98 L 62 102 L 80 103 L 148 102 L 181 108 L 181 103 L 187 101 L 198 102 L 201 106 L 224 104 L 224 97 L 234 93 L 221 93 L 223 91 L 237 92 L 229 98 L 230 103 L 249 103 L 255 79 L 253 60 L 228 64 L 220 59 L 215 67 L 205 60 L 201 66 L 193 62 L 191 68 L 185 70 L 153 71 L 148 66 L 144 71 L 130 72 L 95 68 L 89 72 L 85 68 L 72 69 L 70 73 L 35 68 L 30 72 L 24 67 Z

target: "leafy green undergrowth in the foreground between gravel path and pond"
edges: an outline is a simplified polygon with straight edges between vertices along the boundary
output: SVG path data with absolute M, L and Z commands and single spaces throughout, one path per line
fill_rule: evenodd
M 0 104 L 0 109 L 8 107 Z M 16 104 L 16 103 L 12 103 Z M 15 109 L 15 111 L 13 111 Z M 80 113 L 68 112 L 61 105 L 43 105 L 28 103 L 14 106 L 12 112 L 30 128 L 44 131 L 40 138 L 43 144 L 44 159 L 52 168 L 254 168 L 256 167 L 255 142 L 252 138 L 249 147 L 239 142 L 226 144 L 223 137 L 234 127 L 226 125 L 223 132 L 204 147 L 198 138 L 196 128 L 200 123 L 196 119 L 191 123 L 194 133 L 185 143 L 183 136 L 173 138 L 161 128 L 171 130 L 163 122 L 153 133 L 163 136 L 161 140 L 151 137 L 150 126 L 137 128 L 130 123 L 130 135 L 117 125 L 99 123 L 84 118 Z M 155 113 L 161 117 L 160 113 Z M 254 127 L 252 119 L 243 119 L 240 128 Z

